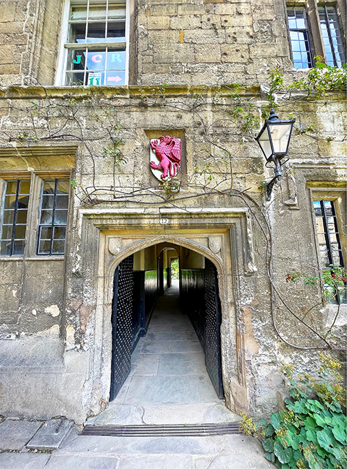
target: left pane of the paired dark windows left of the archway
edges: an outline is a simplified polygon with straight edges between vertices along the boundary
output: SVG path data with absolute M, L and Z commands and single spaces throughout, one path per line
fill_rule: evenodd
M 30 180 L 6 183 L 1 221 L 1 255 L 23 255 Z

